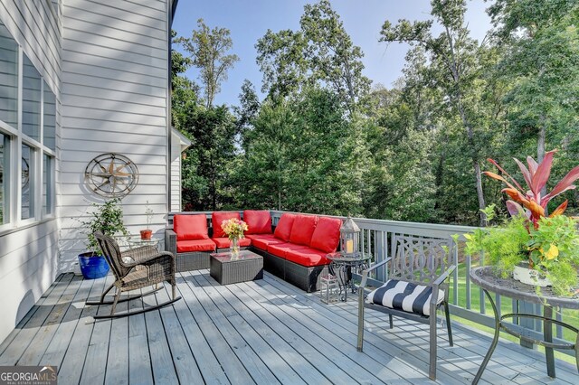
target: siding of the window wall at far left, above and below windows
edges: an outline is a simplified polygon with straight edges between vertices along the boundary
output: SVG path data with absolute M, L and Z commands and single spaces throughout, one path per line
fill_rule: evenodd
M 56 3 L 54 7 L 53 3 Z M 60 153 L 61 30 L 58 3 L 0 0 L 0 19 L 57 99 L 56 154 Z M 56 164 L 56 181 L 59 180 Z M 57 198 L 58 199 L 58 198 Z M 48 219 L 0 232 L 0 341 L 52 284 L 58 268 L 58 222 Z

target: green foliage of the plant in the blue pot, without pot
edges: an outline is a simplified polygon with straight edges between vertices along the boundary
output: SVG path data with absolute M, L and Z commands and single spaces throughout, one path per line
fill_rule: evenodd
M 128 237 L 128 230 L 123 223 L 123 210 L 120 199 L 114 198 L 103 203 L 91 203 L 92 212 L 89 221 L 81 221 L 84 226 L 83 232 L 88 237 L 87 248 L 94 254 L 100 253 L 99 243 L 94 238 L 94 233 L 100 231 L 109 237 L 123 235 Z

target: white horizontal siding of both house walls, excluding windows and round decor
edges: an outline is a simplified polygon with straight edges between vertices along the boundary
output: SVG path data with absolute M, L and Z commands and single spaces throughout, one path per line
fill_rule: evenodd
M 84 181 L 95 156 L 119 153 L 137 164 L 138 185 L 122 200 L 125 224 L 133 234 L 144 229 L 148 202 L 153 236 L 164 238 L 167 184 L 180 175 L 168 128 L 173 3 L 0 0 L 0 21 L 56 96 L 54 211 L 0 223 L 0 342 L 85 251 L 81 221 L 90 202 L 103 202 Z

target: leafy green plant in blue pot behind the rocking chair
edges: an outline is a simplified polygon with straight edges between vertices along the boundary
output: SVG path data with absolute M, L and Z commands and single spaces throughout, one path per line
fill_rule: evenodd
M 123 211 L 119 199 L 110 199 L 100 204 L 92 203 L 91 207 L 90 220 L 82 221 L 83 232 L 88 237 L 89 251 L 79 254 L 82 276 L 87 279 L 105 277 L 109 273 L 109 264 L 100 255 L 99 244 L 94 238 L 95 231 L 101 231 L 110 237 L 128 236 L 128 230 L 123 224 Z

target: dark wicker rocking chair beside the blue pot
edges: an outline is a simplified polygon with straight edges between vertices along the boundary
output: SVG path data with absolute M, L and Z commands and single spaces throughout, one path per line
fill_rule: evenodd
M 175 256 L 173 256 L 173 254 L 166 251 L 158 252 L 156 248 L 151 246 L 128 249 L 121 253 L 119 245 L 114 239 L 104 235 L 100 231 L 95 232 L 94 236 L 99 242 L 100 250 L 107 259 L 110 270 L 115 276 L 115 282 L 113 282 L 112 285 L 102 293 L 100 301 L 86 302 L 86 305 L 112 305 L 110 315 L 94 315 L 93 318 L 118 318 L 127 315 L 138 315 L 150 310 L 158 309 L 159 307 L 171 305 L 181 299 L 180 296 L 176 296 L 176 264 Z M 119 302 L 148 296 L 157 292 L 160 288 L 156 288 L 145 294 L 120 298 L 120 295 L 123 292 L 137 290 L 147 286 L 157 286 L 157 284 L 165 281 L 170 283 L 173 288 L 173 299 L 162 304 L 149 306 L 135 311 L 115 313 L 115 309 Z M 113 287 L 117 288 L 115 298 L 112 301 L 105 301 L 105 296 Z

